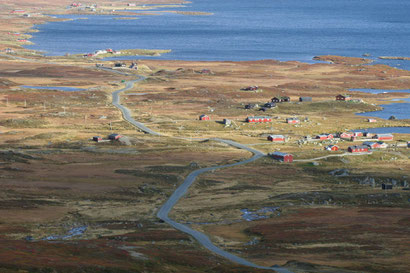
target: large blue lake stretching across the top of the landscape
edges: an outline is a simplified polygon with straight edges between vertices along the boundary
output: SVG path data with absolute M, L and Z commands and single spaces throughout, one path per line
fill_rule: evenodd
M 167 14 L 113 20 L 52 22 L 37 26 L 34 45 L 47 55 L 96 49 L 171 49 L 158 59 L 299 60 L 334 54 L 408 56 L 408 0 L 193 0 L 181 10 L 212 16 Z M 80 16 L 58 16 L 80 18 Z M 140 58 L 140 57 L 138 57 Z M 410 69 L 410 61 L 377 60 Z

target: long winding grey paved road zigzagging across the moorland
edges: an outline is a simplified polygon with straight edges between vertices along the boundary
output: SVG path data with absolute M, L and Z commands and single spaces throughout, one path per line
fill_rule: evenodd
M 104 70 L 112 71 L 112 72 L 115 72 L 115 73 L 118 73 L 118 74 L 121 74 L 121 75 L 128 75 L 126 73 L 123 73 L 123 72 L 120 72 L 120 71 L 115 71 L 115 70 L 112 70 L 112 69 L 104 69 Z M 139 81 L 142 81 L 142 80 L 145 79 L 145 77 L 143 77 L 143 76 L 138 76 L 138 77 L 139 78 L 136 79 L 136 80 L 127 81 L 124 88 L 119 89 L 117 91 L 114 91 L 112 93 L 112 104 L 122 112 L 122 115 L 123 115 L 123 117 L 126 121 L 128 121 L 132 125 L 138 127 L 139 129 L 141 129 L 142 131 L 144 131 L 147 134 L 160 136 L 161 135 L 160 133 L 149 129 L 143 123 L 138 122 L 134 118 L 132 118 L 130 110 L 127 107 L 121 105 L 121 103 L 120 103 L 120 94 L 122 92 L 130 90 L 131 88 L 133 88 L 133 86 L 136 82 L 139 82 Z M 243 160 L 243 161 L 240 161 L 240 162 L 227 164 L 227 165 L 222 165 L 222 166 L 203 168 L 203 169 L 199 169 L 199 170 L 195 170 L 195 171 L 191 172 L 185 178 L 184 182 L 168 198 L 168 200 L 165 202 L 165 204 L 162 205 L 162 207 L 159 209 L 159 211 L 157 213 L 157 217 L 160 218 L 161 220 L 163 220 L 165 223 L 173 226 L 175 229 L 180 230 L 184 233 L 187 233 L 187 234 L 191 235 L 192 237 L 194 237 L 198 241 L 198 243 L 203 245 L 206 249 L 208 249 L 208 250 L 212 251 L 213 253 L 215 253 L 219 256 L 222 256 L 222 257 L 224 257 L 224 258 L 226 258 L 226 259 L 228 259 L 228 260 L 230 260 L 234 263 L 249 266 L 249 267 L 254 267 L 254 268 L 258 268 L 258 269 L 272 270 L 272 271 L 276 271 L 276 272 L 279 272 L 279 273 L 292 273 L 291 271 L 287 270 L 286 268 L 282 268 L 282 267 L 279 267 L 279 266 L 276 266 L 276 265 L 272 266 L 272 267 L 260 266 L 260 265 L 254 264 L 254 263 L 252 263 L 252 262 L 250 262 L 250 261 L 248 261 L 244 258 L 236 256 L 232 253 L 229 253 L 229 252 L 215 246 L 212 243 L 212 241 L 209 239 L 209 237 L 206 236 L 205 234 L 203 234 L 203 233 L 201 233 L 197 230 L 194 230 L 194 229 L 190 228 L 187 225 L 183 225 L 183 224 L 178 223 L 178 222 L 176 222 L 176 221 L 169 218 L 168 215 L 169 215 L 170 211 L 173 209 L 173 207 L 176 205 L 176 203 L 178 203 L 178 201 L 186 194 L 189 187 L 192 185 L 192 183 L 195 182 L 195 179 L 198 177 L 198 175 L 203 174 L 205 172 L 213 171 L 213 170 L 218 170 L 218 169 L 222 169 L 222 168 L 228 168 L 228 167 L 234 167 L 234 166 L 247 164 L 247 163 L 253 162 L 253 161 L 265 156 L 264 153 L 262 153 L 258 150 L 249 148 L 246 145 L 237 143 L 237 142 L 232 141 L 232 140 L 226 140 L 226 139 L 220 139 L 220 138 L 211 138 L 210 140 L 225 143 L 225 144 L 231 145 L 233 147 L 236 147 L 238 149 L 247 150 L 247 151 L 253 153 L 253 156 L 249 159 L 246 159 L 246 160 Z

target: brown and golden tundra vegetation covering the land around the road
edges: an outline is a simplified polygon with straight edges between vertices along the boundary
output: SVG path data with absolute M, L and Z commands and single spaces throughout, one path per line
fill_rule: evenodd
M 263 157 L 205 173 L 171 218 L 264 266 L 279 264 L 293 272 L 407 272 L 410 152 L 400 145 L 409 135 L 394 134 L 388 148 L 367 155 L 297 160 L 341 155 L 357 144 L 306 141 L 308 135 L 410 126 L 409 119 L 368 123 L 355 115 L 408 94 L 348 91 L 408 89 L 409 71 L 372 65 L 365 58 L 318 56 L 328 63 L 138 60 L 138 69 L 129 69 L 131 61 L 124 61 L 125 67 L 114 70 L 128 75 L 120 75 L 100 69 L 101 61 L 93 58 L 44 57 L 22 48 L 9 32 L 29 33 L 33 24 L 55 20 L 41 14 L 74 11 L 65 9 L 71 3 L 64 0 L 18 2 L 0 0 L 0 50 L 11 50 L 0 54 L 1 272 L 265 272 L 215 256 L 156 218 L 190 172 L 251 156 L 205 140 L 213 137 L 264 153 L 291 153 L 296 161 Z M 125 5 L 94 2 L 103 13 L 111 4 Z M 21 8 L 39 15 L 10 13 Z M 122 94 L 121 103 L 161 137 L 139 131 L 111 104 L 111 93 L 137 75 L 146 80 Z M 241 91 L 253 85 L 263 92 Z M 362 102 L 335 101 L 345 93 Z M 280 96 L 291 102 L 265 112 L 245 109 Z M 299 103 L 301 96 L 312 102 Z M 210 120 L 200 121 L 202 114 Z M 273 119 L 251 124 L 248 116 Z M 287 124 L 289 117 L 298 117 L 300 124 Z M 112 133 L 122 140 L 106 141 Z M 273 143 L 269 134 L 288 140 Z M 92 141 L 94 136 L 103 141 Z M 325 151 L 332 143 L 340 150 Z M 382 184 L 393 189 L 382 190 Z

